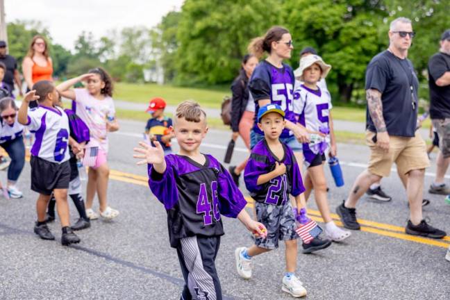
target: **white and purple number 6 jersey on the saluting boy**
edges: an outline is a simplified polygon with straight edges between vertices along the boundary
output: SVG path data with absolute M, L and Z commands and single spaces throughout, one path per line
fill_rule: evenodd
M 32 108 L 26 126 L 35 135 L 31 155 L 58 164 L 69 160 L 69 118 L 62 108 Z

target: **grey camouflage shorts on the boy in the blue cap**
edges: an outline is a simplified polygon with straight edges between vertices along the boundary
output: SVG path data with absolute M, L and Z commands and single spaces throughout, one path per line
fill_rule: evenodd
M 290 201 L 274 206 L 267 203 L 255 203 L 256 217 L 267 228 L 267 238 L 257 238 L 255 244 L 265 249 L 278 248 L 278 240 L 294 240 L 299 236 L 295 232 L 295 216 Z

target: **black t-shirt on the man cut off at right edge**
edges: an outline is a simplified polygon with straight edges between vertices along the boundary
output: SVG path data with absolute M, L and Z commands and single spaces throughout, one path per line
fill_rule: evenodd
M 450 56 L 436 53 L 428 61 L 428 86 L 430 87 L 430 117 L 445 119 L 450 117 L 450 85 L 437 86 L 436 81 L 445 72 L 450 72 Z

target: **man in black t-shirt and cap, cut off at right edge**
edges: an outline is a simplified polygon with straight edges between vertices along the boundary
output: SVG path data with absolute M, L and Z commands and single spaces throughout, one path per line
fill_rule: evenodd
M 440 152 L 436 159 L 436 177 L 428 192 L 450 194 L 444 183 L 450 163 L 450 29 L 442 33 L 439 52 L 428 60 L 430 116 L 439 136 Z

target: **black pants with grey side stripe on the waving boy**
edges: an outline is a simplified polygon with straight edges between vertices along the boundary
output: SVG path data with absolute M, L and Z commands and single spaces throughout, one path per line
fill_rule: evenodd
M 220 237 L 182 238 L 176 248 L 185 280 L 182 300 L 222 300 L 222 288 L 215 268 Z

